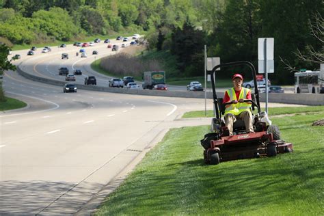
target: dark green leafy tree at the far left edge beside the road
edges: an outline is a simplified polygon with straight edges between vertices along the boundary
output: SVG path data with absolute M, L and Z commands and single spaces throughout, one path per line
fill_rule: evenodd
M 16 66 L 8 61 L 9 47 L 5 44 L 0 44 L 0 75 L 3 75 L 5 70 L 16 70 Z M 5 101 L 5 96 L 2 89 L 2 81 L 0 81 L 0 101 Z

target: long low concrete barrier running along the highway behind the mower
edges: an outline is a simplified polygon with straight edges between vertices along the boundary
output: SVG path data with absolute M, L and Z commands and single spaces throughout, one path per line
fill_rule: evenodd
M 55 79 L 49 79 L 45 77 L 38 77 L 36 75 L 31 75 L 28 72 L 21 70 L 17 66 L 17 72 L 19 75 L 31 79 L 33 81 L 39 81 L 42 83 L 47 83 L 51 85 L 60 85 L 63 87 L 65 81 L 59 81 Z M 100 87 L 95 85 L 81 85 L 75 84 L 78 89 L 81 90 L 92 90 L 98 92 L 111 92 L 119 94 L 140 94 L 147 96 L 165 96 L 165 97 L 180 97 L 180 98 L 204 98 L 204 92 L 181 92 L 181 91 L 156 91 L 156 90 L 130 90 L 126 88 L 116 88 L 116 87 Z M 224 92 L 217 92 L 220 97 L 224 96 Z M 213 98 L 212 92 L 206 92 L 207 98 Z M 265 102 L 265 93 L 260 94 L 260 101 Z M 298 104 L 298 105 L 324 105 L 324 94 L 281 94 L 281 93 L 271 93 L 268 94 L 269 103 L 288 103 L 288 104 Z

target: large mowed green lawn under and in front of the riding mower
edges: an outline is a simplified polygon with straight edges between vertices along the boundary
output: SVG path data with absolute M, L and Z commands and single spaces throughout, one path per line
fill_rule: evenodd
M 271 119 L 294 144 L 291 154 L 219 165 L 204 165 L 209 126 L 172 129 L 96 215 L 321 215 L 324 128 L 310 126 L 320 118 Z

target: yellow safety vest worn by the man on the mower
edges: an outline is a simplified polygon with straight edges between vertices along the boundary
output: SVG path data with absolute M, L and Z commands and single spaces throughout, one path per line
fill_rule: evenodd
M 230 101 L 232 100 L 239 100 L 241 98 L 246 99 L 247 93 L 250 92 L 248 88 L 242 87 L 239 98 L 237 98 L 237 95 L 235 94 L 234 87 L 230 90 L 227 90 L 228 96 L 230 96 Z M 225 115 L 228 113 L 231 113 L 235 116 L 238 116 L 243 111 L 251 111 L 251 105 L 249 103 L 237 103 L 232 104 L 229 107 L 225 109 Z

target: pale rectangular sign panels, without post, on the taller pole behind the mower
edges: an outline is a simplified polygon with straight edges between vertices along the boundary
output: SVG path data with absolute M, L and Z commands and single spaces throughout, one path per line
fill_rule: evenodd
M 258 38 L 258 73 L 275 72 L 275 64 L 273 62 L 273 38 Z M 265 63 L 267 68 L 265 69 Z

